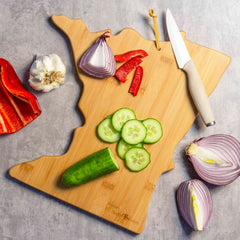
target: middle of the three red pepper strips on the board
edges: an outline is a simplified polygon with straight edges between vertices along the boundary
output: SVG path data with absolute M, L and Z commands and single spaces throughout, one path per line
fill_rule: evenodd
M 137 67 L 142 60 L 139 57 L 134 57 L 124 63 L 122 66 L 120 66 L 117 71 L 115 72 L 115 76 L 118 80 L 121 82 L 126 82 L 127 75 L 135 68 Z

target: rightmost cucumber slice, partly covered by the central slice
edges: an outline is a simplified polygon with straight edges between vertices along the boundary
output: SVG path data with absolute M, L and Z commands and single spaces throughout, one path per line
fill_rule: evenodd
M 148 118 L 142 121 L 143 125 L 147 128 L 147 135 L 144 138 L 144 143 L 156 143 L 158 142 L 162 135 L 162 125 L 155 118 Z

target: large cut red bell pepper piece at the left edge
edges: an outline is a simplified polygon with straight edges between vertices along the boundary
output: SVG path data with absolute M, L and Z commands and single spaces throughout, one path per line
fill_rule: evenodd
M 11 64 L 0 58 L 0 134 L 16 132 L 40 114 L 37 98 L 23 87 Z

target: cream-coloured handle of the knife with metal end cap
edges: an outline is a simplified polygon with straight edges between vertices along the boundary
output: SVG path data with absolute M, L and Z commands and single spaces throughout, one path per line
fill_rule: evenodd
M 193 60 L 188 61 L 183 70 L 187 73 L 189 92 L 205 125 L 207 127 L 214 125 L 214 116 L 208 96 Z

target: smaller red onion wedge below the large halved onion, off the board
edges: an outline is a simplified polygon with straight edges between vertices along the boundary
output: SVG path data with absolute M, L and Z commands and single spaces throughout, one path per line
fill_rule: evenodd
M 193 179 L 182 182 L 177 190 L 178 209 L 195 231 L 203 230 L 212 214 L 212 198 L 206 185 Z

